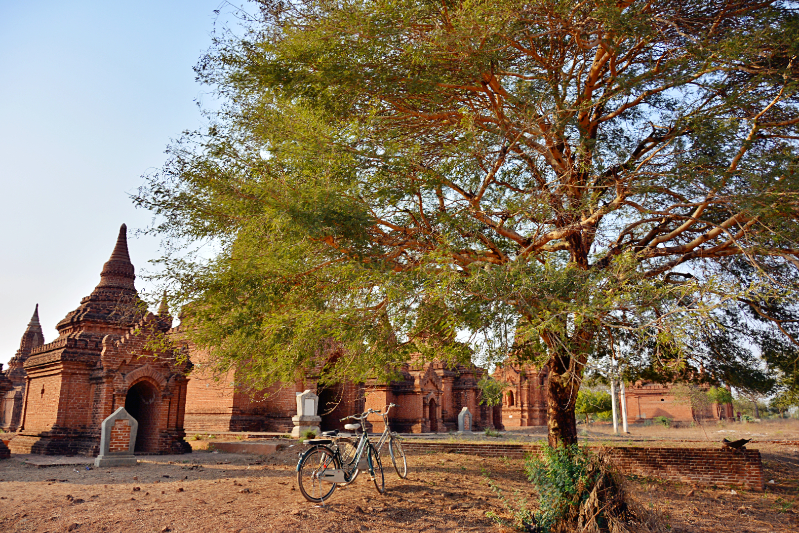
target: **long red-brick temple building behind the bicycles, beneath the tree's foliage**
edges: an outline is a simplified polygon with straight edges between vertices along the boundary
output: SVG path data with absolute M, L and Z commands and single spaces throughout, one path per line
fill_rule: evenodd
M 180 333 L 177 332 L 176 335 Z M 335 345 L 326 361 L 340 356 Z M 448 432 L 458 428 L 458 413 L 467 407 L 473 427 L 494 427 L 498 410 L 479 404 L 477 381 L 483 370 L 459 365 L 447 368 L 441 362 L 411 360 L 400 369 L 400 379 L 390 384 L 337 384 L 321 386 L 308 377 L 295 384 L 275 384 L 260 392 L 236 388 L 236 373 L 213 376 L 209 356 L 193 351 L 195 364 L 186 402 L 186 429 L 192 432 L 271 431 L 290 432 L 296 415 L 296 393 L 311 389 L 320 397 L 318 415 L 323 431 L 344 429 L 340 419 L 368 408 L 397 404 L 389 423 L 398 432 Z M 312 372 L 309 372 L 309 375 Z M 372 415 L 367 427 L 383 431 L 383 419 Z

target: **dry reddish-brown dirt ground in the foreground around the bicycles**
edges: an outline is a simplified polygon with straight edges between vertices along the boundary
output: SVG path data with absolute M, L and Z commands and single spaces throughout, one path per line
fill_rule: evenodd
M 628 491 L 660 511 L 670 531 L 797 531 L 799 451 L 760 448 L 766 479 L 775 479 L 765 492 L 655 479 L 630 479 Z M 134 467 L 88 471 L 38 468 L 14 455 L 0 461 L 0 531 L 500 532 L 509 530 L 486 512 L 507 516 L 507 510 L 490 482 L 535 501 L 522 460 L 415 454 L 408 479 L 386 470 L 384 495 L 361 475 L 337 489 L 326 507 L 315 507 L 296 490 L 298 449 L 265 457 L 150 455 Z

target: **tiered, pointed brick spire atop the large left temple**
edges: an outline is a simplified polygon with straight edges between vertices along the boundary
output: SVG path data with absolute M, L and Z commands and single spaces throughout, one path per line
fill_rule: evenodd
M 56 329 L 61 334 L 70 335 L 86 321 L 117 326 L 123 331 L 144 316 L 136 285 L 133 264 L 128 254 L 128 227 L 121 225 L 117 243 L 111 257 L 105 261 L 100 272 L 100 283 L 89 296 L 81 300 L 81 305 L 58 323 Z

